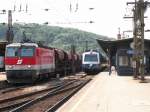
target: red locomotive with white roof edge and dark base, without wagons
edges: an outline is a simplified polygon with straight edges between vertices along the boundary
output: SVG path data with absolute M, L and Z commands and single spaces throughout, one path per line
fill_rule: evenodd
M 54 51 L 36 43 L 13 43 L 6 46 L 5 68 L 10 83 L 31 83 L 54 71 Z

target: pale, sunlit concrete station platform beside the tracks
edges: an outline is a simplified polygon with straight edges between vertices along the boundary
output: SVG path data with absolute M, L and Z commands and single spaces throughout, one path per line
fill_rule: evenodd
M 150 77 L 139 83 L 132 76 L 101 72 L 57 112 L 150 112 Z

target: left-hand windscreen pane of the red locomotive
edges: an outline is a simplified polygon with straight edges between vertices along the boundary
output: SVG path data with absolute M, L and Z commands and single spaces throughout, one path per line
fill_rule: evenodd
M 18 56 L 18 48 L 17 47 L 8 47 L 6 50 L 7 57 L 16 57 Z

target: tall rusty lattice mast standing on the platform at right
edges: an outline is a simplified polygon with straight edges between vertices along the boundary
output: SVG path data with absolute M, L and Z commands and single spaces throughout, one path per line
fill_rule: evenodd
M 144 82 L 144 13 L 150 2 L 144 2 L 144 0 L 135 0 L 135 2 L 127 2 L 127 5 L 133 4 L 133 43 L 134 43 L 134 78 L 138 78 L 140 74 L 141 82 Z

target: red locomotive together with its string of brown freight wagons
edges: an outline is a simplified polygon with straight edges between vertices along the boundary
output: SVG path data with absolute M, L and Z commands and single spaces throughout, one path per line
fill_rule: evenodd
M 39 46 L 36 43 L 12 43 L 6 46 L 5 69 L 9 83 L 32 83 L 56 74 L 79 71 L 78 54 Z

